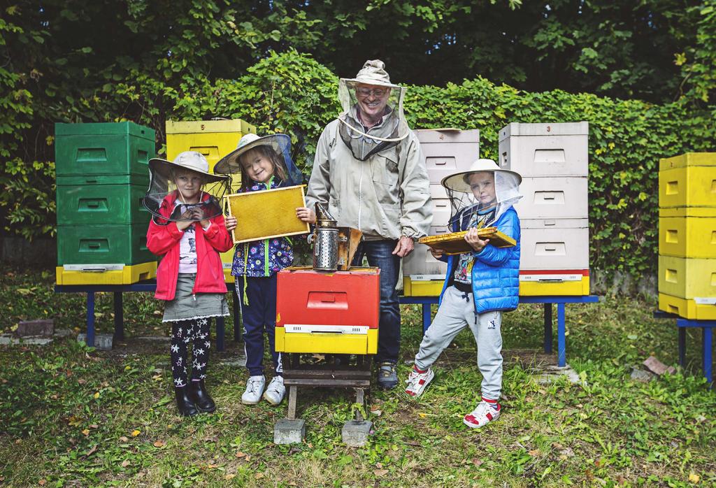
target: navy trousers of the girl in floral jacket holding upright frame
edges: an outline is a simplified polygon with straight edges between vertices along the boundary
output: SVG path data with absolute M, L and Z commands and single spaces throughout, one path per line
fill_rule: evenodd
M 248 305 L 243 303 L 246 280 Z M 269 337 L 274 371 L 283 376 L 281 354 L 276 352 L 276 273 L 267 278 L 236 276 L 238 303 L 241 303 L 243 343 L 246 348 L 246 368 L 251 376 L 263 374 L 263 333 Z

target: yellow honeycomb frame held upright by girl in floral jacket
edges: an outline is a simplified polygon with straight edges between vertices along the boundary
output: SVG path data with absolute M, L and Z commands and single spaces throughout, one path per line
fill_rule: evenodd
M 309 225 L 296 217 L 305 207 L 303 185 L 228 195 L 228 214 L 236 217 L 233 243 L 307 234 Z

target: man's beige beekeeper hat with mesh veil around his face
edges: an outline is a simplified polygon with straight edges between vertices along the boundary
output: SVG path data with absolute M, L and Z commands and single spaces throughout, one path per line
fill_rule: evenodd
M 410 133 L 403 114 L 405 88 L 390 82 L 384 62 L 365 62 L 355 78 L 341 78 L 338 98 L 339 134 L 353 157 L 365 161 L 376 152 L 397 145 Z M 369 118 L 379 122 L 367 127 Z

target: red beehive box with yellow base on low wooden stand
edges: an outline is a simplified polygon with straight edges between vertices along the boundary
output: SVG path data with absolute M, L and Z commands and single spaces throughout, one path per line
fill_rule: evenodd
M 286 268 L 276 279 L 276 351 L 377 352 L 378 268 L 335 273 Z

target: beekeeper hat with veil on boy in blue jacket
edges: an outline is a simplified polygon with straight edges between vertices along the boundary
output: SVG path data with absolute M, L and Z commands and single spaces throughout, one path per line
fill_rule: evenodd
M 470 188 L 470 177 L 480 172 L 490 172 L 495 175 L 495 202 L 490 203 L 487 207 L 480 203 Z M 522 177 L 518 172 L 503 170 L 496 162 L 487 159 L 476 160 L 470 165 L 468 171 L 457 172 L 442 178 L 440 184 L 445 187 L 450 198 L 449 230 L 452 230 L 456 220 L 463 220 L 464 223 L 465 219 L 471 218 L 478 211 L 487 210 L 493 206 L 496 208 L 493 221 L 498 220 L 500 215 L 522 198 L 520 195 L 521 182 Z

